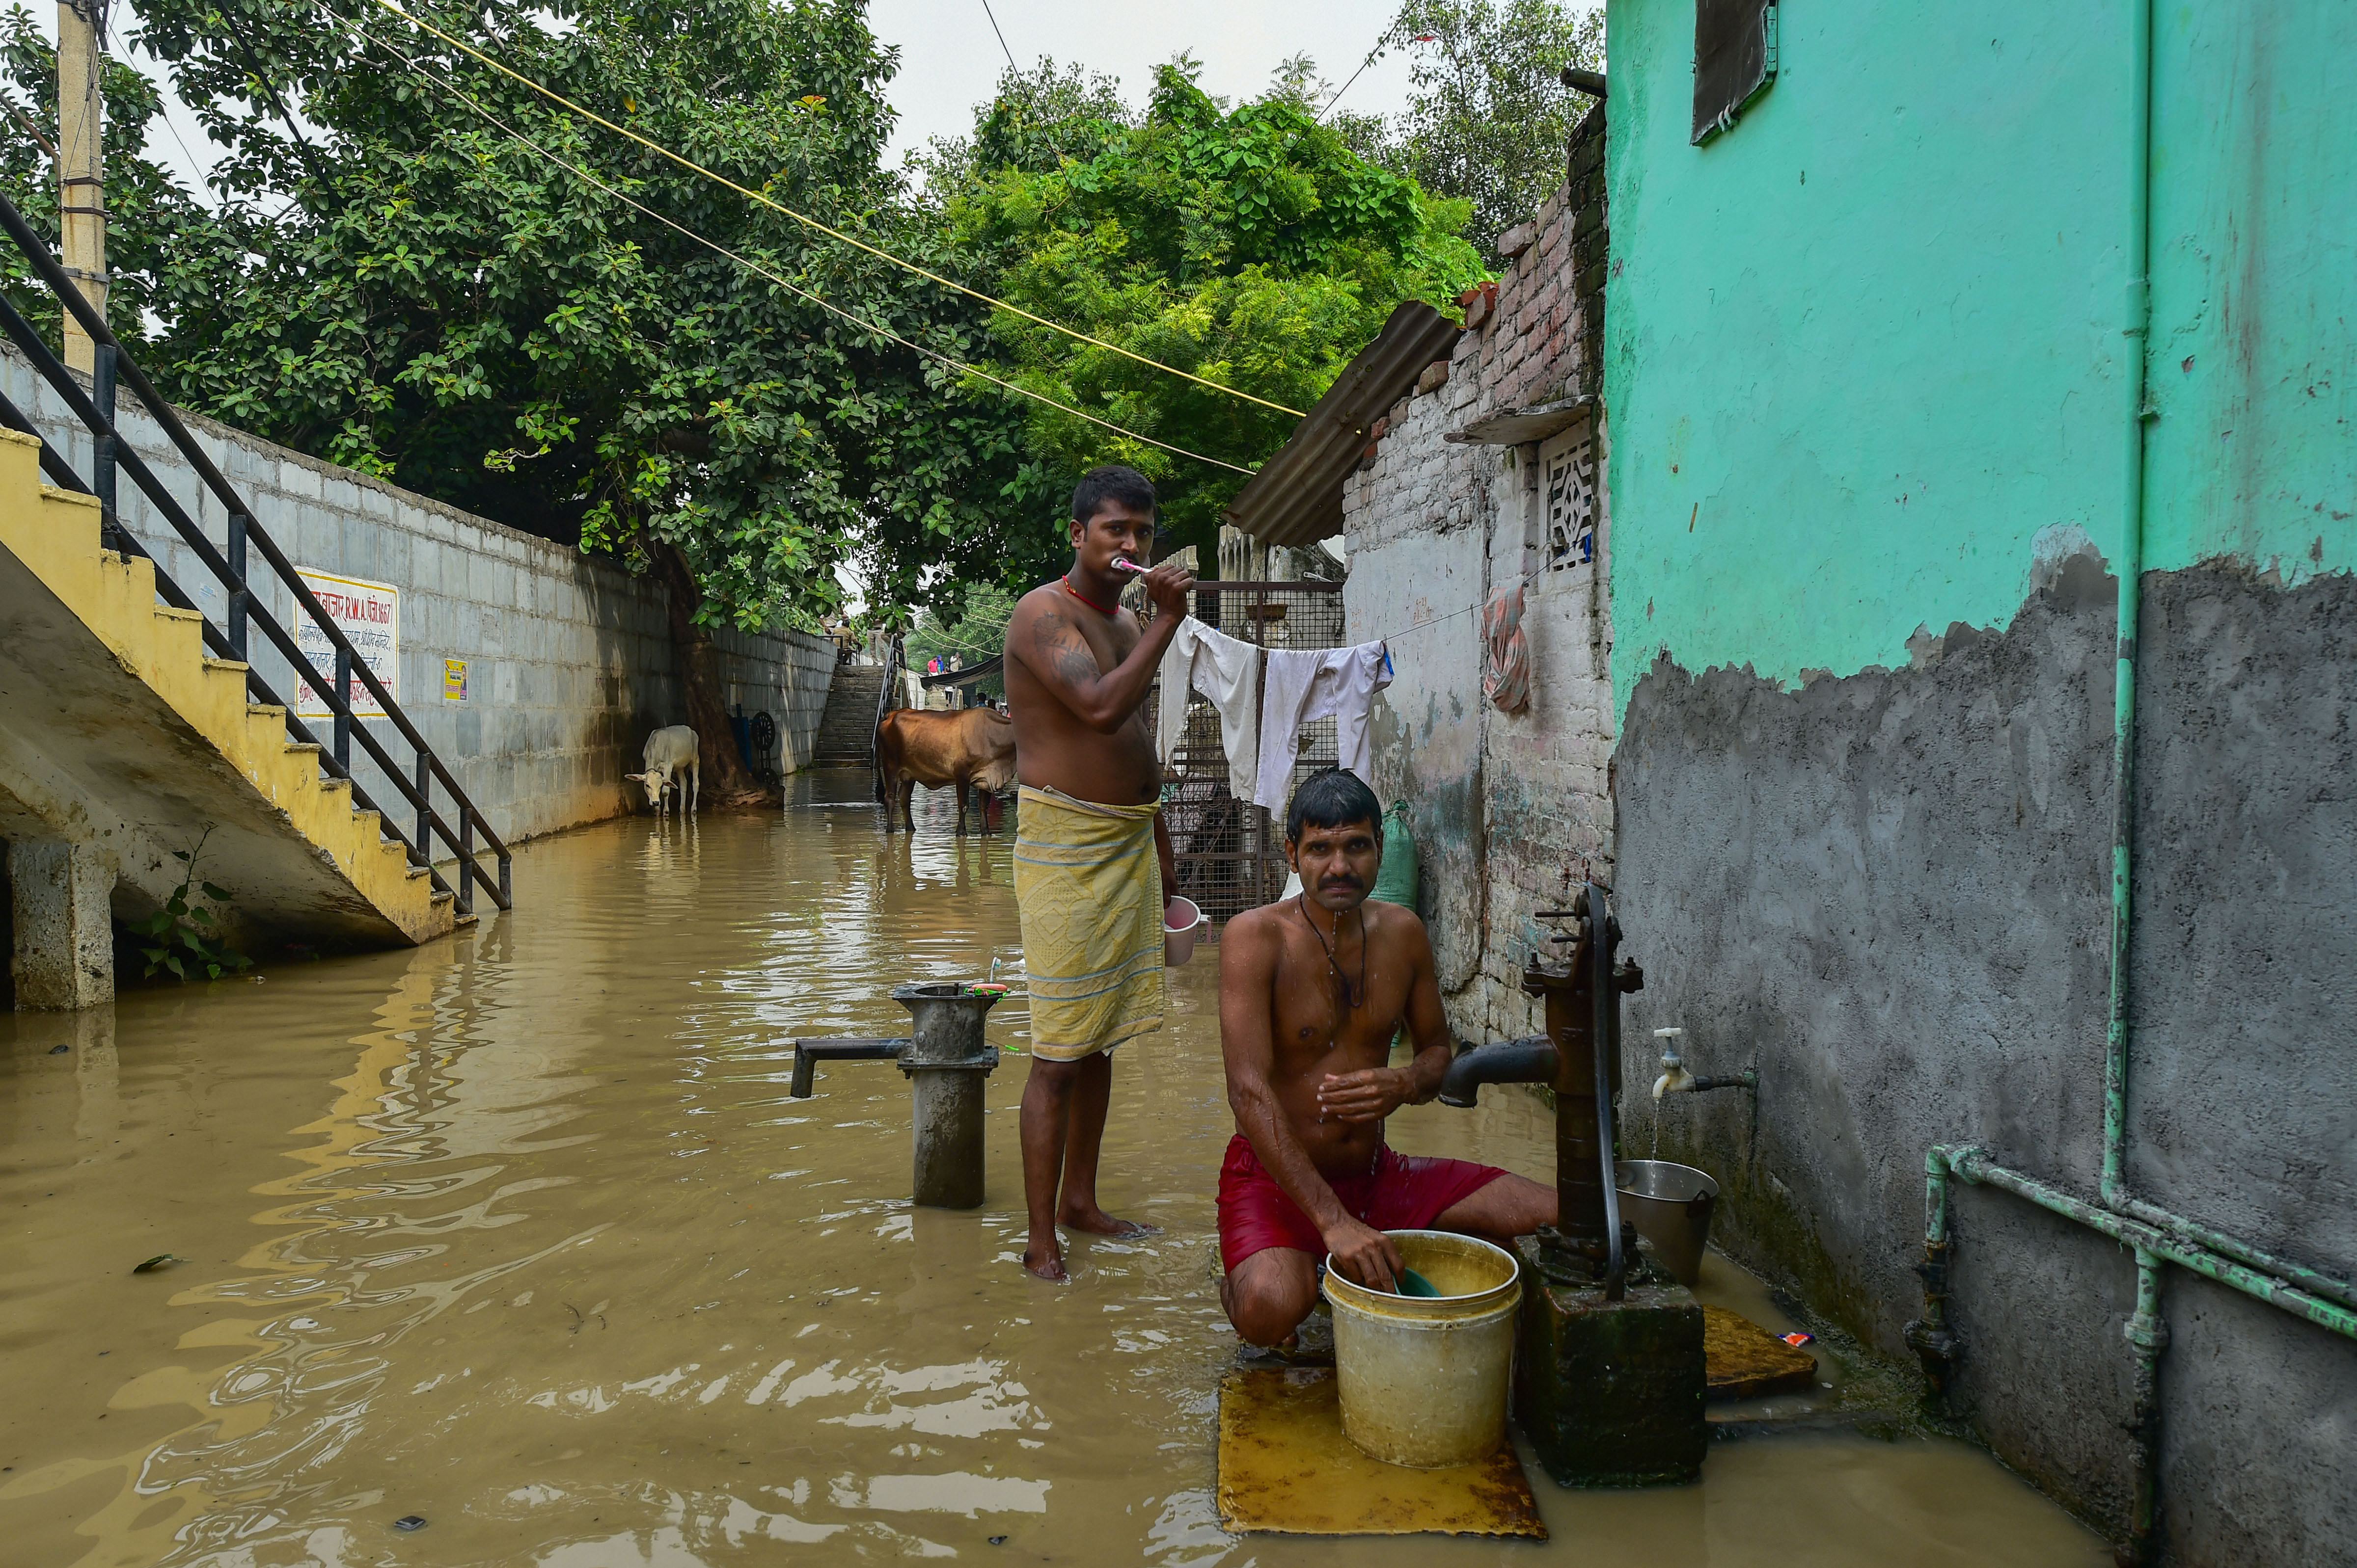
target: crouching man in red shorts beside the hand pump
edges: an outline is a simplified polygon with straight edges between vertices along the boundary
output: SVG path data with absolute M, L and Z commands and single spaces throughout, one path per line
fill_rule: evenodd
M 1219 1297 L 1252 1344 L 1318 1304 L 1318 1264 L 1393 1290 L 1384 1231 L 1508 1241 L 1556 1222 L 1556 1191 L 1466 1161 L 1384 1147 L 1395 1107 L 1440 1092 L 1450 1031 L 1424 921 L 1369 902 L 1381 808 L 1358 775 L 1313 775 L 1285 812 L 1301 895 L 1235 916 L 1219 942 L 1219 1038 L 1237 1135 L 1219 1170 Z M 1417 1055 L 1388 1067 L 1405 1019 Z

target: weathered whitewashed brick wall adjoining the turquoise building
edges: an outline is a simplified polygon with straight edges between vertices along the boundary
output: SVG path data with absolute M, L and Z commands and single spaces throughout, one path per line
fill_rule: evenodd
M 1537 445 L 1445 440 L 1494 412 L 1596 393 L 1603 297 L 1582 292 L 1577 261 L 1603 254 L 1600 108 L 1582 137 L 1593 167 L 1574 139 L 1579 184 L 1539 207 L 1445 379 L 1391 407 L 1372 461 L 1343 485 L 1351 638 L 1388 638 L 1398 671 L 1376 699 L 1372 784 L 1386 805 L 1407 800 L 1450 1022 L 1468 1038 L 1537 1029 L 1520 994 L 1523 958 L 1546 935 L 1532 913 L 1560 906 L 1565 878 L 1612 881 L 1603 494 L 1598 558 L 1549 570 Z M 1605 436 L 1598 421 L 1598 471 Z M 1516 582 L 1530 706 L 1501 713 L 1483 697 L 1480 607 Z

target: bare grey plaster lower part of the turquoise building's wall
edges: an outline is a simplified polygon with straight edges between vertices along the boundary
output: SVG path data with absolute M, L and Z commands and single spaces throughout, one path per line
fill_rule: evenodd
M 2357 1274 L 2357 584 L 2145 577 L 2131 1144 L 2140 1196 Z M 1650 1029 L 1737 1092 L 1624 1097 L 1721 1180 L 1728 1250 L 1904 1356 L 1923 1151 L 1978 1142 L 2093 1196 L 2102 1161 L 2117 584 L 2048 558 L 2001 631 L 1782 690 L 1657 662 L 1617 753 L 1617 888 Z M 2133 1260 L 1963 1189 L 1956 1408 L 2126 1521 Z M 2357 1561 L 2357 1344 L 2171 1269 L 2168 1556 Z

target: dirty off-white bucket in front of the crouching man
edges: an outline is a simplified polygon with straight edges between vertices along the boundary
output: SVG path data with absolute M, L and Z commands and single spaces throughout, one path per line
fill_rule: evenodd
M 1473 1464 L 1506 1441 L 1520 1269 L 1511 1253 L 1473 1236 L 1388 1234 L 1440 1295 L 1367 1290 L 1327 1257 L 1343 1436 L 1386 1464 Z

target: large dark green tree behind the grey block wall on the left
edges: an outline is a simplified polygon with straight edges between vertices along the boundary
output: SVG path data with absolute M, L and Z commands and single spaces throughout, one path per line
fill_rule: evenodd
M 163 268 L 165 330 L 144 358 L 170 396 L 655 572 L 686 718 L 709 737 L 726 735 L 709 624 L 816 626 L 853 558 L 886 589 L 999 567 L 999 537 L 1047 494 L 1025 414 L 891 337 L 981 358 L 978 306 L 377 7 L 141 7 L 141 42 L 229 148 L 222 193 L 285 205 L 236 235 L 231 268 Z M 858 5 L 410 9 L 740 186 L 971 271 L 882 170 L 893 54 Z M 726 744 L 712 756 L 724 793 L 752 786 Z

